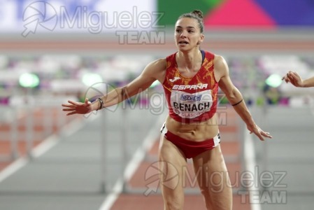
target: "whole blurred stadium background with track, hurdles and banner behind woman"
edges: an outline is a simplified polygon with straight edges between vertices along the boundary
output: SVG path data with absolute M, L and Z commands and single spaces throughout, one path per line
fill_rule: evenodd
M 290 70 L 314 76 L 313 0 L 0 5 L 0 209 L 163 208 L 162 86 L 86 116 L 65 116 L 61 104 L 93 101 L 176 52 L 176 20 L 194 9 L 204 13 L 201 48 L 227 60 L 253 118 L 273 135 L 265 142 L 248 135 L 220 92 L 234 209 L 313 207 L 314 89 L 281 80 Z M 205 209 L 187 175 L 185 209 Z

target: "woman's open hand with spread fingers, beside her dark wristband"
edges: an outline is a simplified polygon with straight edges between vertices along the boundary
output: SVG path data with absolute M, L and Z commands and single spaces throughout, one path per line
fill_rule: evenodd
M 68 101 L 69 104 L 62 104 L 63 107 L 66 107 L 62 109 L 62 111 L 66 111 L 66 116 L 71 116 L 74 114 L 87 114 L 92 112 L 92 103 L 88 101 L 88 99 L 85 99 L 84 103 L 81 102 L 72 102 Z

